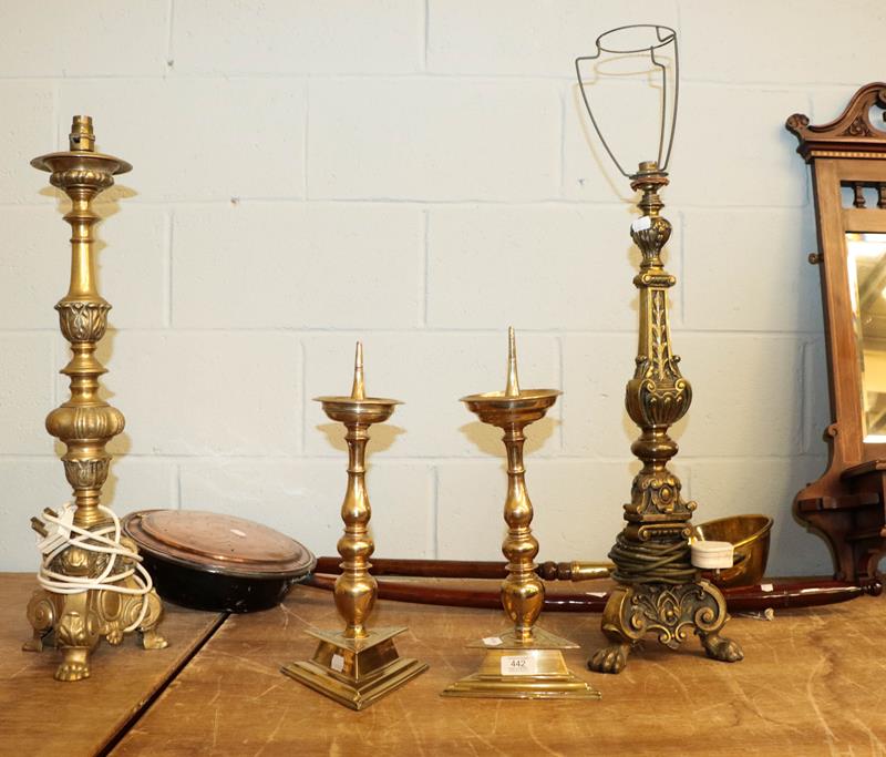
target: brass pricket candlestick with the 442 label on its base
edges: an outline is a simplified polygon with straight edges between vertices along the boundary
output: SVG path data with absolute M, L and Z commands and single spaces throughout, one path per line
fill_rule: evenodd
M 526 491 L 523 466 L 524 429 L 545 417 L 557 401 L 557 389 L 521 390 L 514 329 L 508 329 L 507 386 L 504 391 L 463 397 L 462 401 L 484 423 L 504 431 L 507 450 L 507 499 L 504 516 L 507 536 L 502 552 L 507 557 L 507 577 L 502 583 L 502 606 L 514 630 L 482 640 L 472 646 L 486 649 L 480 669 L 446 688 L 445 696 L 517 699 L 599 699 L 600 694 L 566 667 L 563 649 L 577 648 L 535 626 L 545 601 L 545 585 L 533 560 L 538 541 L 529 524 L 533 505 Z

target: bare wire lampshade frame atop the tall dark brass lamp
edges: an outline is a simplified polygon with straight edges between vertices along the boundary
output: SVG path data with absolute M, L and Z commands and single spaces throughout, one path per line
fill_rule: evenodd
M 639 48 L 617 44 L 619 32 L 632 31 L 637 29 L 655 30 L 655 41 L 648 45 Z M 656 58 L 656 51 L 660 51 L 662 48 L 666 48 L 670 44 L 673 44 L 673 109 L 670 119 L 670 130 L 666 130 L 668 106 L 668 67 L 658 58 Z M 630 178 L 632 174 L 625 171 L 625 168 L 621 166 L 621 163 L 615 156 L 615 153 L 609 146 L 609 143 L 606 141 L 606 137 L 604 137 L 600 126 L 597 123 L 597 119 L 594 117 L 594 110 L 590 106 L 590 99 L 588 96 L 585 80 L 581 78 L 580 67 L 585 61 L 598 60 L 605 52 L 616 55 L 635 55 L 647 52 L 649 53 L 652 64 L 661 72 L 661 125 L 659 129 L 658 158 L 656 163 L 660 171 L 666 171 L 668 167 L 668 162 L 671 158 L 671 149 L 673 147 L 673 132 L 677 125 L 677 103 L 680 94 L 680 59 L 677 51 L 677 32 L 670 27 L 663 27 L 659 23 L 633 23 L 625 27 L 616 27 L 615 29 L 604 32 L 597 38 L 595 45 L 597 47 L 597 52 L 595 52 L 593 55 L 584 55 L 575 59 L 575 73 L 578 79 L 578 86 L 581 90 L 581 99 L 585 101 L 585 108 L 588 111 L 590 122 L 594 124 L 594 130 L 597 132 L 597 136 L 600 137 L 600 142 L 602 143 L 602 146 L 608 153 L 609 157 L 612 158 L 612 163 L 615 163 L 616 167 L 621 172 L 621 174 L 628 178 Z M 664 144 L 666 131 L 670 132 L 668 134 L 667 147 Z

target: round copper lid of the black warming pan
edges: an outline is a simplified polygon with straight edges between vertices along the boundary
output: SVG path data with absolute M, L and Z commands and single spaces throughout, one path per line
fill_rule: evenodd
M 202 510 L 142 510 L 123 519 L 140 550 L 208 573 L 295 579 L 317 559 L 286 534 L 244 518 Z

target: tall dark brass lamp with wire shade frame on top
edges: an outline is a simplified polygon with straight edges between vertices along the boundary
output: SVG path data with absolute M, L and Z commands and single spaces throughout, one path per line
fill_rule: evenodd
M 618 32 L 649 33 L 655 38 L 643 47 L 617 44 Z M 630 651 L 647 633 L 658 634 L 662 644 L 676 648 L 690 631 L 701 637 L 708 656 L 723 662 L 742 658 L 741 647 L 720 635 L 729 620 L 720 591 L 700 577 L 691 563 L 689 538 L 694 502 L 680 495 L 680 480 L 668 469 L 677 454 L 677 443 L 668 428 L 689 409 L 692 390 L 678 367 L 680 358 L 671 348 L 668 320 L 668 289 L 674 277 L 664 270 L 661 249 L 671 235 L 670 223 L 661 217 L 663 203 L 659 190 L 668 185 L 666 172 L 673 142 L 677 119 L 677 86 L 669 90 L 667 67 L 657 60 L 656 51 L 673 44 L 677 68 L 677 35 L 672 29 L 653 24 L 621 27 L 597 38 L 597 52 L 576 60 L 576 74 L 588 114 L 606 151 L 618 170 L 630 178 L 631 188 L 642 192 L 639 208 L 642 217 L 631 224 L 631 238 L 642 253 L 640 272 L 633 278 L 640 290 L 640 335 L 633 378 L 628 381 L 625 403 L 631 420 L 640 428 L 640 437 L 631 451 L 643 463 L 633 479 L 631 501 L 625 505 L 627 524 L 609 553 L 615 562 L 612 573 L 619 582 L 602 615 L 602 632 L 610 644 L 599 649 L 588 666 L 599 673 L 619 673 Z M 581 79 L 579 64 L 596 60 L 602 52 L 636 55 L 648 53 L 662 76 L 661 130 L 658 160 L 640 163 L 627 174 L 606 143 Z M 679 85 L 679 72 L 674 81 Z M 664 147 L 666 112 L 669 92 L 673 91 L 672 120 L 667 152 Z

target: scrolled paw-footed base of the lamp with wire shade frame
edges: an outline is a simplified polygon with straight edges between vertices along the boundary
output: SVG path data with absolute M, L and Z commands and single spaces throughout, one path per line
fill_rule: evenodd
M 724 663 L 744 658 L 741 647 L 720 635 L 729 621 L 717 586 L 703 579 L 686 584 L 648 583 L 615 589 L 602 614 L 602 632 L 611 642 L 588 661 L 596 673 L 620 673 L 628 655 L 647 633 L 676 649 L 692 631 L 709 657 Z

